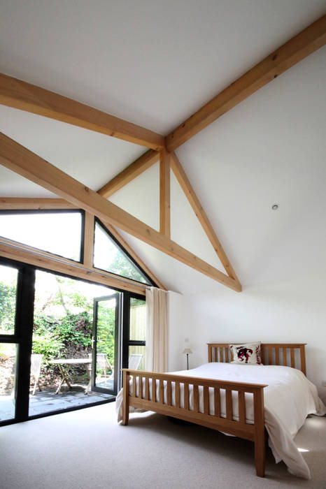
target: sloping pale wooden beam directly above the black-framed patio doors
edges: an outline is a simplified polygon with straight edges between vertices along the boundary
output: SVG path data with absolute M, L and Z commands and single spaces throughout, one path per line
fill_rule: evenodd
M 82 263 L 71 263 L 70 260 L 58 258 L 58 256 L 46 253 L 45 251 L 35 250 L 25 245 L 10 242 L 0 238 L 0 255 L 23 263 L 29 263 L 36 267 L 46 268 L 54 272 L 73 275 L 84 280 L 90 280 L 97 284 L 107 285 L 113 289 L 129 291 L 145 295 L 146 286 L 136 284 L 133 280 L 118 279 L 116 275 L 109 272 L 99 272 L 96 268 L 87 268 Z

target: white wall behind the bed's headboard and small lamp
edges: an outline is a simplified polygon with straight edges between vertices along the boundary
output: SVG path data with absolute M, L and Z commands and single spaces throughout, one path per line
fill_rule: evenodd
M 326 400 L 326 279 L 305 278 L 247 286 L 241 293 L 217 286 L 183 296 L 170 337 L 171 365 L 178 365 L 184 337 L 194 348 L 192 366 L 207 361 L 207 342 L 307 343 L 307 377 Z M 183 328 L 176 330 L 183 312 Z M 171 316 L 173 312 L 171 310 Z M 180 327 L 180 326 L 179 326 Z M 179 343 L 177 347 L 176 344 Z

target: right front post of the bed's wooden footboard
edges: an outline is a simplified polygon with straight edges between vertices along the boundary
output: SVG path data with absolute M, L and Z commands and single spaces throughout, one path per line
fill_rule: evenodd
M 255 466 L 257 476 L 265 475 L 265 433 L 264 433 L 264 388 L 255 389 L 253 393 L 255 416 Z

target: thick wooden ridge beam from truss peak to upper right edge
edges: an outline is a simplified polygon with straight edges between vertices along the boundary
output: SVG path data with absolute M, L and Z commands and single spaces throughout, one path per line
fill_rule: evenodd
M 176 149 L 208 124 L 231 110 L 235 105 L 274 80 L 312 52 L 326 43 L 326 15 L 313 22 L 297 36 L 272 52 L 250 71 L 238 78 L 232 85 L 215 96 L 210 102 L 194 112 L 183 124 L 180 124 L 169 136 L 166 136 L 166 148 L 169 152 Z

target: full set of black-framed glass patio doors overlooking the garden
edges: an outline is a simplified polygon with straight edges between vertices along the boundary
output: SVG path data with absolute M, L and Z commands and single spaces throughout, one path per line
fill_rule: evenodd
M 112 400 L 145 344 L 142 295 L 0 258 L 0 425 Z

